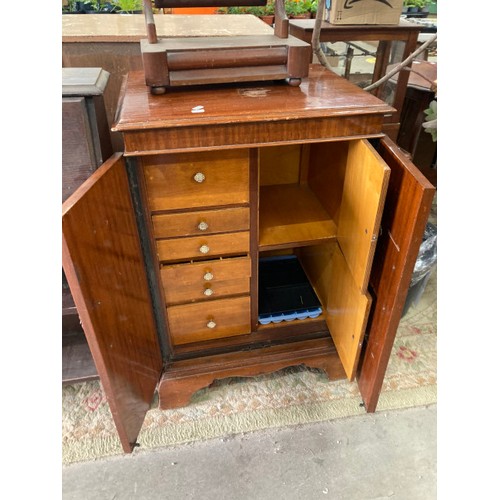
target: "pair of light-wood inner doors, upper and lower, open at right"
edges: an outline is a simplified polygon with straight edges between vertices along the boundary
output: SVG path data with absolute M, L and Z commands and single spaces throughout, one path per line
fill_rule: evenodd
M 368 321 L 368 278 L 390 170 L 368 141 L 353 141 L 347 155 L 337 244 L 332 253 L 326 323 L 353 380 Z

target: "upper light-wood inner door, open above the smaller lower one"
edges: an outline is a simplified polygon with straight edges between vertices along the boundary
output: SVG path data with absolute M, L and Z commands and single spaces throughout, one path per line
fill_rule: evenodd
M 362 293 L 368 286 L 389 173 L 368 141 L 349 143 L 337 238 Z

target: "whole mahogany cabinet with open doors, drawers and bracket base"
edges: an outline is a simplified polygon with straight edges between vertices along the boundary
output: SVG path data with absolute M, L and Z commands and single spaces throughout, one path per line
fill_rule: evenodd
M 311 65 L 299 87 L 151 95 L 124 81 L 124 154 L 63 204 L 63 265 L 124 451 L 155 392 L 286 366 L 357 380 L 375 411 L 434 188 L 383 101 Z M 259 322 L 259 261 L 294 256 L 322 312 Z

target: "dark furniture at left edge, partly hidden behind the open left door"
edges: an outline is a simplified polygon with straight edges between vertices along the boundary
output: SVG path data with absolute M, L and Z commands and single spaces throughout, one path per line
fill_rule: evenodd
M 62 201 L 111 154 L 103 93 L 109 73 L 102 68 L 62 69 Z M 97 378 L 97 371 L 63 273 L 62 380 Z

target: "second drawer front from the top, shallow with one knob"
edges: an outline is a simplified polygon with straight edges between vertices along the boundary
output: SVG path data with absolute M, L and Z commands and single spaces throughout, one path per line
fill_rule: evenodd
M 153 215 L 156 238 L 244 231 L 250 228 L 250 209 L 226 208 L 197 212 Z

